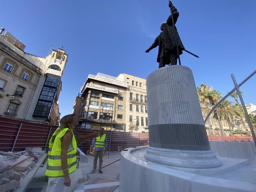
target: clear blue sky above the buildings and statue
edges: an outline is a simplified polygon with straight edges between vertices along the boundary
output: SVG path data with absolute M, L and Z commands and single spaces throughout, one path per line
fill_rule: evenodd
M 177 29 L 188 53 L 181 64 L 193 70 L 196 86 L 206 83 L 224 96 L 256 69 L 255 0 L 173 0 Z M 168 0 L 0 0 L 0 27 L 45 57 L 53 45 L 69 55 L 59 105 L 63 115 L 88 74 L 120 73 L 146 78 L 158 68 L 158 48 L 144 53 L 170 15 Z M 240 90 L 256 104 L 256 75 Z M 229 97 L 230 100 L 232 100 Z

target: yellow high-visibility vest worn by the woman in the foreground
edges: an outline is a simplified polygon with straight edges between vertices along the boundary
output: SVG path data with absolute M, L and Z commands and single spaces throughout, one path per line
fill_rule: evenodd
M 59 128 L 58 128 L 59 129 Z M 56 129 L 56 131 L 58 130 Z M 63 169 L 61 166 L 61 138 L 65 135 L 67 131 L 69 131 L 69 128 L 64 128 L 59 132 L 58 135 L 56 135 L 56 131 L 53 133 L 52 138 L 49 141 L 49 151 L 48 151 L 48 165 L 46 168 L 46 176 L 49 177 L 60 177 L 64 176 Z M 74 134 L 72 133 L 72 143 L 69 146 L 68 149 L 68 172 L 69 174 L 76 171 L 76 139 Z

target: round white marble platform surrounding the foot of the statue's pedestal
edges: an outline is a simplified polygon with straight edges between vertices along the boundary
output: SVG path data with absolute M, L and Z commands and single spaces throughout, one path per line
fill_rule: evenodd
M 245 159 L 223 158 L 226 160 L 219 168 L 209 168 L 219 169 L 216 175 L 204 176 L 202 169 L 195 169 L 195 174 L 185 172 L 189 168 L 175 170 L 145 161 L 146 149 L 143 146 L 122 151 L 120 192 L 256 192 L 256 167 L 247 165 Z

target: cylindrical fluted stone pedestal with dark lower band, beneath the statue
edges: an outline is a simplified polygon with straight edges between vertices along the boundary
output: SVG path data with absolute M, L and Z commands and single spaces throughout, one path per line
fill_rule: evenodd
M 187 168 L 221 165 L 209 140 L 191 69 L 162 67 L 147 77 L 150 146 L 144 157 Z

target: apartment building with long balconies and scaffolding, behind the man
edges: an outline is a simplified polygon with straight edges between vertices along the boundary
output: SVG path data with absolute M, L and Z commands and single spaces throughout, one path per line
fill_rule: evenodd
M 86 126 L 91 129 L 104 127 L 125 131 L 127 88 L 128 85 L 121 76 L 90 74 L 80 90 L 81 95 L 76 97 L 73 113 L 79 120 L 87 117 Z

